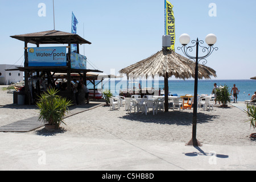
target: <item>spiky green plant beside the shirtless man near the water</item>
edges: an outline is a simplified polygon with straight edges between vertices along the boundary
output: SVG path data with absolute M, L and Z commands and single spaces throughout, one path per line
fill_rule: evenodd
M 227 85 L 220 86 L 220 88 L 216 90 L 217 90 L 217 93 L 216 93 L 217 100 L 222 103 L 221 107 L 227 107 L 228 103 L 231 102 L 231 98 L 230 98 L 231 94 L 229 92 L 228 86 Z

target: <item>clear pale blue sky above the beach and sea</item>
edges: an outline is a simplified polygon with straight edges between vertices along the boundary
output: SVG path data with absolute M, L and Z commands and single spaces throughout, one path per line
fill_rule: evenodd
M 191 40 L 205 40 L 205 36 L 212 33 L 217 36 L 214 46 L 218 51 L 207 58 L 206 65 L 217 72 L 213 80 L 256 76 L 255 0 L 170 2 L 174 5 L 177 53 L 185 56 L 177 50 L 181 47 L 181 34 L 189 34 Z M 42 14 L 40 3 L 46 5 L 45 14 Z M 216 9 L 209 6 L 212 3 Z M 55 0 L 54 6 L 55 30 L 71 32 L 73 11 L 79 21 L 77 34 L 92 42 L 80 46 L 80 53 L 88 59 L 88 69 L 118 74 L 122 68 L 162 49 L 164 0 Z M 53 30 L 53 1 L 0 0 L 0 19 L 0 64 L 23 65 L 24 42 L 10 36 Z M 188 45 L 193 46 L 192 43 Z M 199 55 L 204 53 L 200 51 Z

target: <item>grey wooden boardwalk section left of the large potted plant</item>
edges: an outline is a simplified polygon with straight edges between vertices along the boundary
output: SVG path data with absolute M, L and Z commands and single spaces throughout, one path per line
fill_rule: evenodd
M 42 126 L 44 123 L 38 121 L 38 117 L 32 117 L 1 126 L 0 132 L 29 132 Z

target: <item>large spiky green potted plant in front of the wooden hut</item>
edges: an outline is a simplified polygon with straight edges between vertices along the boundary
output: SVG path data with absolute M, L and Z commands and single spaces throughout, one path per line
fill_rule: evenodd
M 64 124 L 64 117 L 68 111 L 68 106 L 72 101 L 58 96 L 59 91 L 55 88 L 47 89 L 47 92 L 41 94 L 36 106 L 39 108 L 39 121 L 44 122 L 47 130 L 59 129 Z

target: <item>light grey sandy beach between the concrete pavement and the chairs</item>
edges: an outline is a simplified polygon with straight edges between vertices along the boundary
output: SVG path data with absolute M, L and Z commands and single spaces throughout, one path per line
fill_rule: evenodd
M 13 94 L 7 94 L 7 91 L 2 89 L 0 89 L 0 101 L 0 126 L 38 115 L 35 106 L 13 105 Z M 254 130 L 250 128 L 249 122 L 245 122 L 246 120 L 247 115 L 232 105 L 225 109 L 216 105 L 211 111 L 200 109 L 197 139 L 203 146 L 256 147 L 256 141 L 250 138 Z M 77 142 L 84 140 L 96 142 L 98 139 L 106 143 L 121 140 L 129 144 L 179 143 L 181 146 L 185 146 L 192 137 L 192 110 L 170 109 L 168 113 L 159 111 L 156 115 L 151 111 L 145 115 L 129 114 L 124 106 L 120 110 L 110 110 L 109 106 L 100 106 L 72 115 L 65 119 L 65 123 L 67 126 L 62 126 L 61 130 L 55 133 L 48 133 L 42 127 L 28 133 L 0 133 L 0 137 L 36 138 L 38 141 L 46 138 L 51 140 L 58 138 L 61 141 L 75 139 Z

